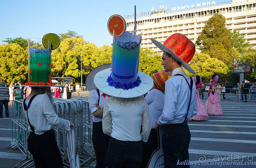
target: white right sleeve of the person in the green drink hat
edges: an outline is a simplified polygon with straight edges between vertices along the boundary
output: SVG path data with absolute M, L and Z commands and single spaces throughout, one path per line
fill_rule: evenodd
M 54 109 L 52 108 L 52 104 L 46 94 L 42 98 L 40 107 L 42 108 L 42 111 L 46 116 L 48 123 L 58 128 L 70 130 L 70 121 L 58 117 L 58 115 L 55 113 Z

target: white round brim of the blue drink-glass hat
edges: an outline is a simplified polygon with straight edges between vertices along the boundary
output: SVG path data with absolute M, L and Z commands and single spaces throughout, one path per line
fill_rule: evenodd
M 123 90 L 122 88 L 108 86 L 107 79 L 110 74 L 111 70 L 110 68 L 108 68 L 98 72 L 94 76 L 94 84 L 96 85 L 96 87 L 100 91 L 110 96 L 118 98 L 136 98 L 138 96 L 146 94 L 153 87 L 153 79 L 149 75 L 140 71 L 138 71 L 138 76 L 140 77 L 141 83 L 138 87 L 135 86 L 132 89 Z

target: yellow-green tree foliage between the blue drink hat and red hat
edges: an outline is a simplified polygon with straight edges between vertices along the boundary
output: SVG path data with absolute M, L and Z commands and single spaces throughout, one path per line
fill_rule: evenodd
M 140 63 L 139 70 L 151 76 L 151 74 L 162 69 L 161 55 L 146 48 L 140 49 Z

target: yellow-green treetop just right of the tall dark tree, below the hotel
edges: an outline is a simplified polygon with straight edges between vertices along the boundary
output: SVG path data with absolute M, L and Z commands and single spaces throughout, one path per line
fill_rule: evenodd
M 239 31 L 234 29 L 234 31 L 231 33 L 232 39 L 234 39 L 234 48 L 239 52 L 239 53 L 244 53 L 244 49 L 249 47 L 249 42 L 245 41 L 244 39 L 244 34 L 240 34 Z

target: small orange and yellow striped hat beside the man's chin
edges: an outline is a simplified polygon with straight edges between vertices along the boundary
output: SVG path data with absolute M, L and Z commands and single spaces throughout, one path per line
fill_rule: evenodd
M 159 90 L 164 92 L 164 85 L 166 80 L 168 80 L 170 77 L 172 77 L 171 72 L 165 72 L 165 70 L 160 70 L 154 74 L 152 74 L 152 78 L 156 84 L 156 86 L 158 86 Z

